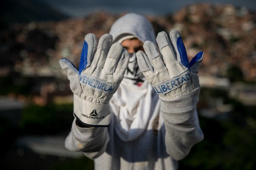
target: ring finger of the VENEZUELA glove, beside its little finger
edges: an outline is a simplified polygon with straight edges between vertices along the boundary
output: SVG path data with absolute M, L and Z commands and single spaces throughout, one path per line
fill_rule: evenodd
M 120 43 L 114 43 L 110 47 L 110 50 L 108 52 L 108 55 L 102 70 L 104 74 L 108 75 L 108 74 L 114 73 L 117 66 L 117 62 L 122 54 L 122 50 L 123 50 L 123 47 Z

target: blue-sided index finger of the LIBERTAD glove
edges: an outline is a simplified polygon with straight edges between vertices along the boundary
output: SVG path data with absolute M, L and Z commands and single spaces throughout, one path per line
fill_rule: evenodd
M 177 31 L 177 30 L 170 31 L 170 39 L 175 48 L 175 51 L 177 52 L 177 61 L 180 64 L 182 64 L 182 66 L 189 68 L 189 62 L 188 62 L 186 48 L 181 39 L 179 31 Z

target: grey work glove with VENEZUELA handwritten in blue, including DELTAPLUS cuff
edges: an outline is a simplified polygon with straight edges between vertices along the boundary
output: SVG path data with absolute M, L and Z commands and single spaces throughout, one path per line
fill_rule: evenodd
M 74 93 L 74 116 L 89 127 L 110 125 L 109 101 L 118 89 L 129 62 L 129 54 L 120 43 L 112 43 L 112 35 L 97 40 L 94 34 L 85 36 L 79 70 L 67 59 L 60 66 L 67 72 Z M 111 47 L 110 47 L 111 46 Z

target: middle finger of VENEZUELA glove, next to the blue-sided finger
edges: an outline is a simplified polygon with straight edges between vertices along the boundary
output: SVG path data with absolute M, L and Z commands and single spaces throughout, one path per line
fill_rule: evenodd
M 100 37 L 97 51 L 95 53 L 94 59 L 91 64 L 92 71 L 95 70 L 96 68 L 101 70 L 102 67 L 104 66 L 106 56 L 108 54 L 108 50 L 110 48 L 112 40 L 113 40 L 113 37 L 110 34 L 104 34 L 102 35 L 102 37 Z

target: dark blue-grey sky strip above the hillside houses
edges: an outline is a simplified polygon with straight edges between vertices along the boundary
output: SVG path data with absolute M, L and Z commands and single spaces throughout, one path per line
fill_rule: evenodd
M 40 0 L 71 17 L 86 16 L 95 11 L 111 13 L 173 14 L 183 6 L 199 2 L 233 4 L 256 11 L 256 0 Z

